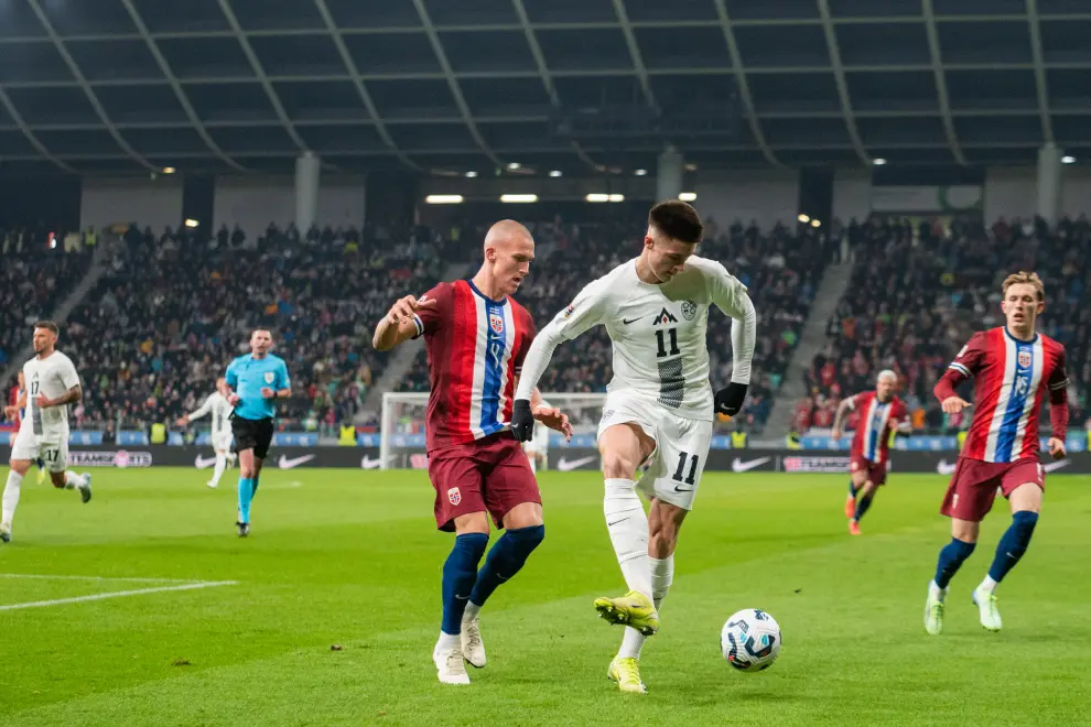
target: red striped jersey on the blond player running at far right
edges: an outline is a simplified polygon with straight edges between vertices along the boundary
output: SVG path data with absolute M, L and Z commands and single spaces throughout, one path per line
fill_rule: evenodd
M 1020 340 L 1007 328 L 992 328 L 970 338 L 950 371 L 974 380 L 973 421 L 962 456 L 1002 463 L 1037 459 L 1041 405 L 1049 392 L 1062 395 L 1068 386 L 1065 347 L 1041 334 Z

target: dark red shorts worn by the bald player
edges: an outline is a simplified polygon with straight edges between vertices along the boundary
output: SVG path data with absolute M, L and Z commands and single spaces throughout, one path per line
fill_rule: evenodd
M 435 488 L 435 527 L 454 531 L 454 519 L 488 512 L 498 529 L 517 504 L 542 496 L 522 447 L 509 432 L 429 454 L 428 476 Z

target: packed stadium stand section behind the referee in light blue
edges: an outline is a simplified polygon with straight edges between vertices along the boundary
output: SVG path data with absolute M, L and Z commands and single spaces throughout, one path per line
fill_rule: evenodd
M 292 375 L 283 426 L 352 420 L 385 362 L 366 343 L 375 321 L 442 272 L 426 236 L 389 236 L 325 228 L 301 241 L 294 228 L 270 227 L 246 243 L 133 231 L 69 316 L 68 350 L 87 388 L 80 424 L 173 422 L 249 350 L 257 326 L 274 332 Z

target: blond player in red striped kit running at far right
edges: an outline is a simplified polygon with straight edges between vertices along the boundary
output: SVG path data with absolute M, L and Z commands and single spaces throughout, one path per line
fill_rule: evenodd
M 948 584 L 973 553 L 981 521 L 992 508 L 997 488 L 1011 502 L 1012 525 L 996 546 L 989 575 L 972 597 L 981 625 L 990 631 L 1001 629 L 996 584 L 1023 557 L 1041 510 L 1045 470 L 1039 462 L 1038 417 L 1047 398 L 1052 426 L 1049 454 L 1057 459 L 1066 455 L 1065 347 L 1035 330 L 1035 322 L 1046 307 L 1041 280 L 1031 272 L 1008 275 L 1001 306 L 1005 325 L 974 334 L 935 389 L 943 411 L 955 414 L 971 405 L 955 388 L 973 378 L 975 404 L 941 509 L 951 518 L 951 542 L 940 552 L 936 577 L 928 587 L 925 629 L 932 634 L 943 630 Z

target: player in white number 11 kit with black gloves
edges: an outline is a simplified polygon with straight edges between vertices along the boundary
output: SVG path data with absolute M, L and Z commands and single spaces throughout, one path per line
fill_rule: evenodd
M 592 326 L 614 344 L 614 378 L 598 425 L 606 479 L 604 512 L 629 593 L 595 608 L 628 628 L 607 674 L 623 692 L 646 692 L 640 648 L 659 630 L 659 606 L 674 575 L 674 545 L 701 482 L 714 414 L 735 415 L 750 379 L 757 315 L 746 286 L 694 256 L 704 228 L 690 205 L 651 208 L 640 257 L 592 282 L 534 339 L 523 361 L 511 430 L 531 436 L 530 392 L 553 349 Z M 709 307 L 734 319 L 731 383 L 713 395 L 705 333 Z M 637 468 L 647 470 L 635 481 Z M 650 500 L 645 514 L 637 495 Z

